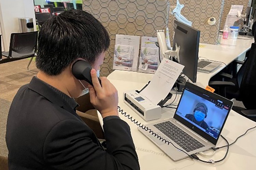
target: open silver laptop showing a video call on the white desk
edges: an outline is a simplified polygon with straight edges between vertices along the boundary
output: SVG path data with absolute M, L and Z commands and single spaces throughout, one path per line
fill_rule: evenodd
M 187 154 L 196 154 L 216 146 L 232 105 L 232 101 L 187 82 L 173 118 L 146 126 Z M 173 160 L 188 157 L 149 131 L 138 129 Z

